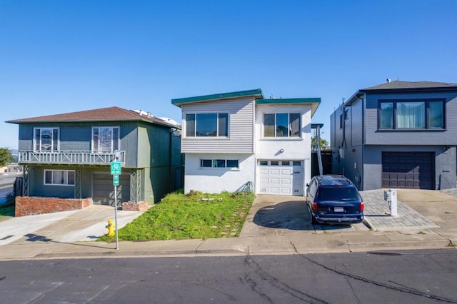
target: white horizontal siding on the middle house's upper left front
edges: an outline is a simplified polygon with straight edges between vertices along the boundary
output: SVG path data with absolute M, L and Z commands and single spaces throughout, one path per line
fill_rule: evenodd
M 229 138 L 186 138 L 185 126 L 181 151 L 183 153 L 253 153 L 253 99 L 238 98 L 223 101 L 183 105 L 186 113 L 229 113 Z

